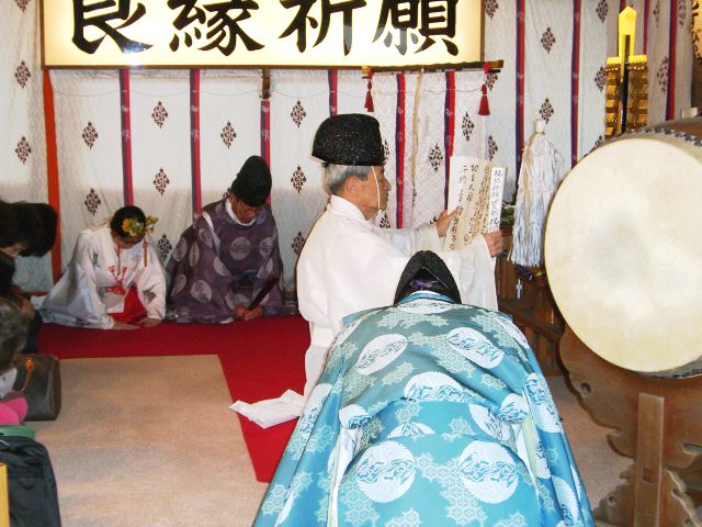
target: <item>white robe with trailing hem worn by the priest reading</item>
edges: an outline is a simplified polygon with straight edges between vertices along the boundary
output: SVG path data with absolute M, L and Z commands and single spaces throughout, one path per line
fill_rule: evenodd
M 455 251 L 442 251 L 435 225 L 378 228 L 349 201 L 332 195 L 297 262 L 297 301 L 309 322 L 312 341 L 305 354 L 305 394 L 286 392 L 281 400 L 233 408 L 261 426 L 290 421 L 304 408 L 325 366 L 325 358 L 343 317 L 390 305 L 400 274 L 418 250 L 433 250 L 446 264 L 465 304 L 497 310 L 492 260 L 483 236 Z

